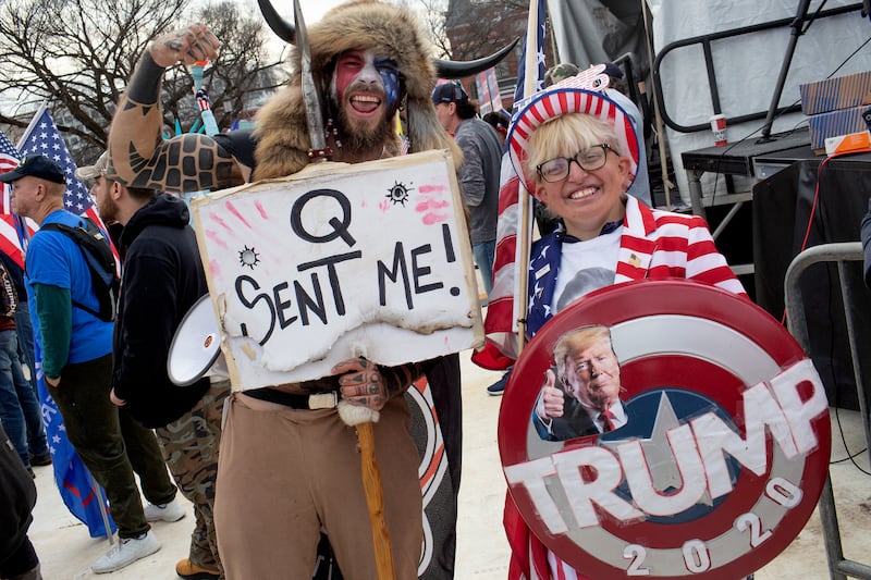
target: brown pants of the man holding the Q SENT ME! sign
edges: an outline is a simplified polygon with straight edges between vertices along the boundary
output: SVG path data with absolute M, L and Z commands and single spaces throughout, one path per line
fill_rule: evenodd
M 226 579 L 310 578 L 321 527 L 345 580 L 377 578 L 355 430 L 335 409 L 238 393 L 226 405 L 214 502 Z M 422 501 L 404 397 L 381 410 L 375 440 L 396 578 L 417 578 Z

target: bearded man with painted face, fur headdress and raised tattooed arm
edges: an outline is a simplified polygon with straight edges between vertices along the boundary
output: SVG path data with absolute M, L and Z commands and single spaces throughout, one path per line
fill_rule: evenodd
M 409 11 L 378 1 L 348 2 L 327 13 L 308 36 L 314 79 L 326 103 L 332 160 L 355 163 L 400 155 L 392 123 L 403 106 L 410 151 L 449 149 L 459 165 L 462 156 L 430 101 L 436 74 L 425 35 Z M 189 134 L 169 141 L 159 137 L 163 70 L 176 62 L 214 59 L 218 47 L 214 36 L 196 25 L 161 37 L 144 54 L 119 103 L 109 139 L 120 180 L 180 192 L 216 189 L 242 183 L 252 169 L 254 178 L 283 177 L 310 162 L 298 55 L 290 86 L 260 111 L 254 139 L 241 132 L 213 139 Z M 489 67 L 493 62 L 478 64 Z M 346 578 L 377 576 L 356 437 L 335 409 L 308 408 L 307 395 L 322 392 L 336 392 L 353 405 L 380 411 L 375 444 L 394 568 L 397 578 L 416 578 L 421 495 L 418 455 L 402 395 L 425 371 L 441 367 L 440 373 L 451 377 L 453 392 L 446 398 L 456 410 L 445 414 L 445 421 L 440 412 L 440 422 L 456 425 L 457 460 L 451 467 L 458 488 L 458 363 L 455 356 L 445 359 L 449 372 L 433 361 L 385 368 L 356 358 L 317 381 L 233 394 L 228 400 L 216 499 L 226 578 L 310 576 L 321 526 Z M 450 447 L 447 454 L 452 456 Z

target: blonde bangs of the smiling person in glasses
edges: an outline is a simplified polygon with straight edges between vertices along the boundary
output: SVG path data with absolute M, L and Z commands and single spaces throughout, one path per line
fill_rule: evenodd
M 528 178 L 539 184 L 541 175 L 536 170 L 537 165 L 555 157 L 575 155 L 601 144 L 608 144 L 621 157 L 626 155 L 619 146 L 614 128 L 608 122 L 585 113 L 556 116 L 539 126 L 529 136 L 524 172 Z

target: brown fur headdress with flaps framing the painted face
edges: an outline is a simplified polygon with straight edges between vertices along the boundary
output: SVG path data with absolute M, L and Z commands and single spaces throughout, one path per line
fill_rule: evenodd
M 417 17 L 407 9 L 378 0 L 353 0 L 332 9 L 308 27 L 311 71 L 321 103 L 328 108 L 329 86 L 335 58 L 346 50 L 372 50 L 396 62 L 406 107 L 410 151 L 449 149 L 457 166 L 462 153 L 436 116 L 430 96 L 436 87 L 431 52 Z M 290 86 L 272 96 L 257 115 L 255 178 L 283 177 L 309 162 L 310 138 L 300 88 L 298 51 Z M 326 125 L 326 120 L 324 120 Z M 384 144 L 398 155 L 396 136 Z

